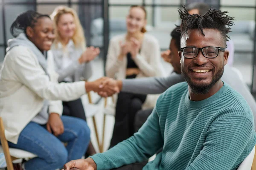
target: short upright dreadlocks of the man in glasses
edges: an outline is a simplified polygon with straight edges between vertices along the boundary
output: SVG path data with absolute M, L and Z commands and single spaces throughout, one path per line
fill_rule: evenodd
M 203 16 L 200 14 L 189 14 L 184 5 L 182 5 L 183 11 L 178 8 L 178 12 L 181 18 L 180 33 L 183 35 L 187 34 L 187 31 L 192 29 L 198 29 L 205 36 L 203 29 L 204 28 L 213 28 L 221 32 L 223 40 L 226 44 L 226 41 L 230 39 L 227 35 L 230 31 L 230 27 L 233 26 L 234 17 L 227 16 L 227 11 L 221 11 L 217 9 L 210 8 L 206 14 Z

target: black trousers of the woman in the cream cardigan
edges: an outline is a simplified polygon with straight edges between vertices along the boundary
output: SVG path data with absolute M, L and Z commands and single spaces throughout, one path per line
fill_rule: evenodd
M 134 119 L 145 102 L 146 95 L 120 92 L 116 102 L 116 121 L 110 147 L 131 137 L 134 130 Z

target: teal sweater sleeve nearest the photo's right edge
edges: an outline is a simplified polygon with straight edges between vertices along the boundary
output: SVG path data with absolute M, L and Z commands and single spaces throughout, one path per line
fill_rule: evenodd
M 229 135 L 230 134 L 230 135 Z M 243 159 L 245 148 L 249 154 L 255 145 L 253 122 L 244 116 L 226 116 L 212 122 L 204 147 L 186 170 L 233 170 Z

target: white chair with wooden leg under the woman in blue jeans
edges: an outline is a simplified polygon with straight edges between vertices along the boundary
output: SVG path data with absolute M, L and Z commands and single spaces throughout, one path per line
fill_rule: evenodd
M 1 117 L 0 117 L 0 139 L 1 139 L 0 153 L 4 153 L 6 164 L 7 164 L 7 170 L 13 170 L 12 161 L 16 159 L 32 159 L 37 157 L 35 154 L 27 152 L 25 150 L 15 149 L 11 147 L 9 148 L 8 142 L 4 134 L 3 120 Z

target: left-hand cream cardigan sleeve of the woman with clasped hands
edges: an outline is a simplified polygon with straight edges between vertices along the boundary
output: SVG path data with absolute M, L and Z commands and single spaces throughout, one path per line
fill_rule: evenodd
M 115 78 L 115 74 L 119 71 L 123 62 L 123 60 L 118 59 L 119 54 L 115 45 L 119 44 L 115 42 L 115 39 L 111 39 L 106 60 L 106 75 L 112 78 Z

